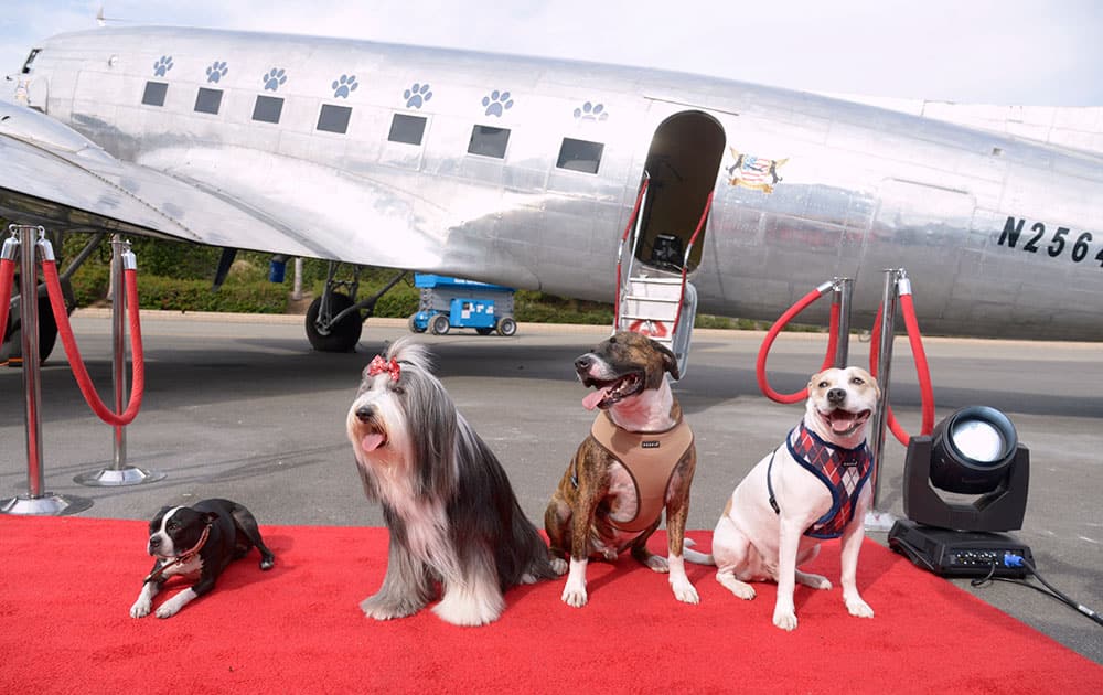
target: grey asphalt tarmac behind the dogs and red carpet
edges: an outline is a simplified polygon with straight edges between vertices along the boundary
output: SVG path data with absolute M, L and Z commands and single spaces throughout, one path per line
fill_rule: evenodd
M 92 501 L 79 516 L 149 518 L 167 504 L 226 496 L 261 524 L 382 525 L 363 495 L 344 421 L 360 373 L 405 321 L 372 319 L 355 353 L 310 350 L 300 317 L 143 312 L 146 396 L 126 428 L 129 466 L 165 473 L 133 487 L 92 488 L 74 477 L 113 466 L 113 429 L 84 403 L 58 344 L 42 368 L 45 491 Z M 74 331 L 105 400 L 110 395 L 106 312 L 74 314 Z M 525 513 L 544 507 L 592 414 L 575 357 L 608 334 L 597 327 L 521 324 L 513 338 L 457 332 L 421 335 L 459 409 L 506 468 Z M 762 333 L 699 330 L 685 378 L 675 385 L 694 428 L 698 467 L 690 528 L 711 530 L 736 483 L 803 415 L 760 393 L 754 360 Z M 1024 528 L 1050 585 L 1103 612 L 1103 345 L 927 339 L 938 418 L 967 405 L 1006 413 L 1030 449 Z M 824 335 L 785 333 L 769 367 L 773 387 L 801 388 L 823 361 Z M 868 362 L 852 340 L 850 363 Z M 919 387 L 908 341 L 895 348 L 890 398 L 919 429 Z M 28 490 L 21 371 L 0 367 L 0 499 Z M 878 509 L 903 515 L 904 448 L 886 436 Z M 885 544 L 885 533 L 870 533 Z M 917 571 L 919 571 L 917 569 Z M 858 569 L 859 582 L 861 569 Z M 1103 627 L 1021 585 L 963 589 L 1103 664 Z M 1035 586 L 1041 586 L 1037 579 Z M 967 639 L 946 626 L 947 639 Z

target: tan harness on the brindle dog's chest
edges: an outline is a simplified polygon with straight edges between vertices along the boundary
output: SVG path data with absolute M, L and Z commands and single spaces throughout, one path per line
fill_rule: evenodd
M 630 432 L 617 427 L 609 415 L 601 411 L 593 420 L 590 435 L 624 466 L 635 484 L 639 500 L 635 517 L 612 525 L 621 531 L 645 531 L 663 511 L 674 468 L 693 446 L 693 430 L 678 418 L 677 425 L 663 432 Z

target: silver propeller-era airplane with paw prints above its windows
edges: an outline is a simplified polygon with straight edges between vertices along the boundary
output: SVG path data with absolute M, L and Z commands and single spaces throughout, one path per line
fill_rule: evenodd
M 602 301 L 631 228 L 630 275 L 684 270 L 689 316 L 775 319 L 849 277 L 871 322 L 903 267 L 925 332 L 1103 339 L 1099 148 L 688 74 L 197 29 L 57 35 L 12 79 L 12 222 Z M 364 303 L 322 300 L 308 333 L 350 348 Z

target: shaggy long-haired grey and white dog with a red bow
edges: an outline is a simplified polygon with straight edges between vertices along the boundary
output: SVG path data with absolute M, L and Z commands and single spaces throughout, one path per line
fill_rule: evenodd
M 547 546 L 497 458 L 432 375 L 425 346 L 404 338 L 385 360 L 398 363 L 398 379 L 365 370 L 347 418 L 364 490 L 383 505 L 392 541 L 383 586 L 361 606 L 378 619 L 408 616 L 435 598 L 440 581 L 442 619 L 490 622 L 502 591 L 555 576 Z M 386 443 L 365 452 L 365 431 L 382 432 Z

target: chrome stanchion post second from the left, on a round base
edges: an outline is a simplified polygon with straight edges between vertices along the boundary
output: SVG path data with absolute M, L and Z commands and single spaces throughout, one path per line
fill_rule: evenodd
M 122 413 L 127 400 L 127 291 L 126 271 L 138 268 L 137 258 L 130 250 L 130 242 L 116 234 L 111 237 L 111 343 L 115 348 L 111 359 L 114 367 L 115 411 Z M 161 471 L 149 471 L 127 466 L 127 431 L 125 425 L 114 427 L 114 462 L 110 468 L 81 473 L 73 479 L 82 485 L 119 487 L 138 485 L 164 478 Z

